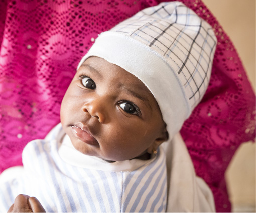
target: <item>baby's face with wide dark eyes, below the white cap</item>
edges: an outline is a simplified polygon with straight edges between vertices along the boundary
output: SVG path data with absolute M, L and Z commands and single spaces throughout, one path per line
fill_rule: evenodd
M 88 58 L 74 76 L 61 104 L 61 123 L 78 151 L 109 161 L 144 156 L 167 140 L 148 88 L 98 57 Z

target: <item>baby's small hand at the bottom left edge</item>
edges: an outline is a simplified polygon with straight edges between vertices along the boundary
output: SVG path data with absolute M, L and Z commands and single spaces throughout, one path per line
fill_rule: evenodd
M 45 212 L 45 209 L 36 197 L 20 194 L 8 212 Z

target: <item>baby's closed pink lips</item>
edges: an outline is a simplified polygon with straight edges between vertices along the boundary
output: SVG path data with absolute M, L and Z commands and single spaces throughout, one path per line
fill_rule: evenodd
M 80 141 L 92 146 L 99 146 L 98 141 L 91 135 L 90 131 L 83 126 L 83 124 L 78 123 L 71 127 L 73 135 Z

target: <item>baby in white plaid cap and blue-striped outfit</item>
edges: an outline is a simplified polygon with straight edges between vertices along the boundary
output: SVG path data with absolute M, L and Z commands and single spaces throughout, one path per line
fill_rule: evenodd
M 61 124 L 25 147 L 19 175 L 0 178 L 0 209 L 214 211 L 177 133 L 207 89 L 215 47 L 212 28 L 179 2 L 100 34 L 63 98 Z

